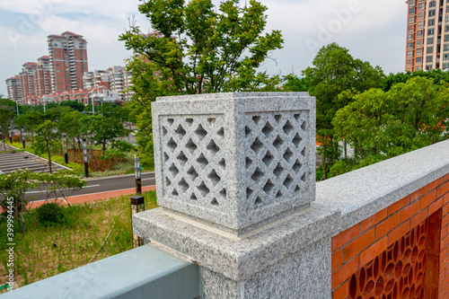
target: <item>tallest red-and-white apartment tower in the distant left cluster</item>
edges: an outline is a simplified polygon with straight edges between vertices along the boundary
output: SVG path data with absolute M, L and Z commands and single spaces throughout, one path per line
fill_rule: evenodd
M 48 36 L 52 92 L 83 88 L 83 75 L 88 72 L 87 41 L 82 35 L 66 31 Z

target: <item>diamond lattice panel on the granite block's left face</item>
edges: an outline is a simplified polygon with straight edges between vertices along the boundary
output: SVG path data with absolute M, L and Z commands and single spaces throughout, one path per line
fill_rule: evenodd
M 223 116 L 171 116 L 160 121 L 164 197 L 219 208 L 226 198 Z

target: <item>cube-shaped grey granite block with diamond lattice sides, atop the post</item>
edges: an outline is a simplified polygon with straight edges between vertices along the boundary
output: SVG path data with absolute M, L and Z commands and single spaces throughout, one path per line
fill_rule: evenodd
M 201 94 L 152 104 L 158 204 L 242 234 L 315 196 L 315 99 Z

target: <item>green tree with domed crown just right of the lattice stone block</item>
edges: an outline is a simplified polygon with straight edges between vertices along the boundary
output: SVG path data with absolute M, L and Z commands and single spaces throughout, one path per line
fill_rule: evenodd
M 340 97 L 345 91 L 364 92 L 369 88 L 381 87 L 383 71 L 379 66 L 353 58 L 347 48 L 332 43 L 320 49 L 313 59 L 313 67 L 303 71 L 310 83 L 310 93 L 316 97 L 316 125 L 318 139 L 322 145 L 324 178 L 332 163 L 339 156 L 339 146 L 332 125 L 337 110 L 348 105 L 349 97 Z

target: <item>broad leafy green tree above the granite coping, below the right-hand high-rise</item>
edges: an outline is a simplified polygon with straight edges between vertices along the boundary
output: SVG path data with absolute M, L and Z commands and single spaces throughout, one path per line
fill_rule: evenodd
M 433 79 L 413 77 L 388 92 L 371 89 L 336 113 L 336 134 L 355 148 L 356 167 L 447 138 L 449 93 Z

